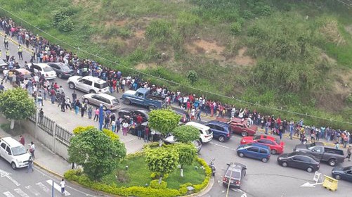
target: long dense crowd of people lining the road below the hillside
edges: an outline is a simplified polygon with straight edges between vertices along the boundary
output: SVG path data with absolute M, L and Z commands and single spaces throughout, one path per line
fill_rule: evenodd
M 25 29 L 25 27 L 16 25 L 11 18 L 0 18 L 0 30 L 4 30 L 7 37 L 17 39 L 19 44 L 25 44 L 27 49 L 30 49 L 30 63 L 26 62 L 24 66 L 31 72 L 31 63 L 62 62 L 74 70 L 74 75 L 91 75 L 107 81 L 111 93 L 125 91 L 126 88 L 136 90 L 143 87 L 150 89 L 151 94 L 164 97 L 167 106 L 171 106 L 171 104 L 178 105 L 179 108 L 183 108 L 190 113 L 191 120 L 201 120 L 201 113 L 210 115 L 210 117 L 238 117 L 247 119 L 251 125 L 259 125 L 262 129 L 265 129 L 266 134 L 269 131 L 273 134 L 278 134 L 280 139 L 282 138 L 282 134 L 289 132 L 291 139 L 292 136 L 296 135 L 300 136 L 301 141 L 304 141 L 308 136 L 311 141 L 326 139 L 327 141 L 334 141 L 337 144 L 344 144 L 345 147 L 346 144 L 352 144 L 352 138 L 347 131 L 325 126 L 308 127 L 304 125 L 303 119 L 296 122 L 293 119 L 287 120 L 284 118 L 282 120 L 280 117 L 275 117 L 274 115 L 262 115 L 256 110 L 235 108 L 235 106 L 227 103 L 209 100 L 204 95 L 196 96 L 195 94 L 184 94 L 181 91 L 172 91 L 167 87 L 152 84 L 150 81 L 143 81 L 138 76 L 123 77 L 122 72 L 119 70 L 112 70 L 100 65 L 96 61 L 79 58 L 76 54 L 63 49 L 58 44 L 53 44 L 44 37 Z M 8 39 L 6 38 L 4 39 L 4 46 L 6 49 L 8 48 Z M 22 56 L 22 49 L 20 47 L 18 48 L 19 58 Z M 19 66 L 18 63 L 15 63 L 14 56 L 11 56 L 11 60 L 9 59 L 9 61 L 13 61 L 11 65 Z M 25 79 L 21 83 L 20 80 L 15 79 L 15 83 L 28 89 L 39 105 L 43 106 L 43 100 L 50 97 L 52 103 L 58 101 L 59 106 L 61 106 L 60 109 L 63 112 L 68 108 L 70 110 L 73 108 L 76 114 L 79 113 L 79 110 L 82 116 L 88 113 L 89 119 L 91 119 L 94 113 L 95 117 L 93 120 L 98 120 L 97 109 L 93 110 L 92 106 L 89 106 L 88 103 L 81 103 L 79 98 L 77 98 L 77 94 L 73 93 L 71 100 L 69 96 L 65 95 L 65 91 L 58 84 L 49 84 L 40 73 L 37 75 L 32 72 L 32 76 L 32 81 Z M 124 120 L 123 117 L 117 117 L 113 113 L 105 113 L 104 121 L 105 128 L 111 127 L 116 132 L 121 128 L 124 134 L 126 134 L 127 129 L 138 125 L 134 124 L 136 122 Z

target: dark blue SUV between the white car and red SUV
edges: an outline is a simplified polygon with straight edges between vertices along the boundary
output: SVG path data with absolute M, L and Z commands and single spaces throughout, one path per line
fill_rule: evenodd
M 205 125 L 207 125 L 210 128 L 214 138 L 219 139 L 219 141 L 221 142 L 228 141 L 231 138 L 230 125 L 216 120 L 211 120 L 207 122 L 207 124 Z

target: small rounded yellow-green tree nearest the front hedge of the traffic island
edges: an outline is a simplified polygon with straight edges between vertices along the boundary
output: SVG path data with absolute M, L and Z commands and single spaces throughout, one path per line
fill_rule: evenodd
M 178 151 L 175 148 L 148 148 L 145 150 L 145 162 L 152 172 L 160 174 L 159 184 L 164 174 L 173 172 L 178 165 Z

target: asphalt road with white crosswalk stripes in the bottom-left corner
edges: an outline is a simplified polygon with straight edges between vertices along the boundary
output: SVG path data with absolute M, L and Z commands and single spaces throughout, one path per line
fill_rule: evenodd
M 60 178 L 53 177 L 35 166 L 34 172 L 29 173 L 27 167 L 13 170 L 6 160 L 0 159 L 0 196 L 52 196 L 52 191 L 54 196 L 62 196 L 60 181 Z M 97 196 L 94 191 L 67 182 L 65 190 L 64 196 Z

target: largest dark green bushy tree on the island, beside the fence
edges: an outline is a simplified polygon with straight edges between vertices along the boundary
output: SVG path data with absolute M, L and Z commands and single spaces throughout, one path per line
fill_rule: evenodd
M 118 139 L 112 139 L 97 128 L 87 127 L 84 132 L 72 136 L 68 147 L 69 160 L 82 165 L 90 179 L 99 180 L 126 156 L 126 148 Z

